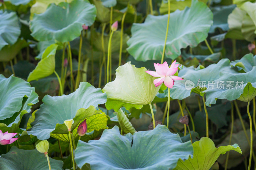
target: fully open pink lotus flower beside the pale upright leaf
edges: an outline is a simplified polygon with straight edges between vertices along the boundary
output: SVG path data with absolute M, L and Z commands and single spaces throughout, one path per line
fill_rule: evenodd
M 164 82 L 164 85 L 166 85 L 169 88 L 172 88 L 172 86 L 174 85 L 174 80 L 183 80 L 178 76 L 173 76 L 178 70 L 179 66 L 179 64 L 175 63 L 176 60 L 172 63 L 170 68 L 167 62 L 164 62 L 163 64 L 154 63 L 156 71 L 146 71 L 146 73 L 154 77 L 160 77 L 154 80 L 154 84 L 156 87 Z

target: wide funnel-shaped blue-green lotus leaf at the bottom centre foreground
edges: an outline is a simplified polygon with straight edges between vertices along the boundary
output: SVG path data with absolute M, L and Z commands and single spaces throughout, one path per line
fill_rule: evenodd
M 99 140 L 78 141 L 75 160 L 78 167 L 88 163 L 92 170 L 166 170 L 192 153 L 191 142 L 182 143 L 180 136 L 164 125 L 126 136 L 120 135 L 115 126 L 104 130 Z

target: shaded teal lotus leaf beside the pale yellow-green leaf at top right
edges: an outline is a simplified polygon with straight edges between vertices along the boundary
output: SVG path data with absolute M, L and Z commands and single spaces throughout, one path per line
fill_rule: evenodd
M 213 25 L 209 33 L 214 33 L 216 28 L 228 31 L 228 15 L 235 9 L 236 5 L 218 6 L 212 9 Z

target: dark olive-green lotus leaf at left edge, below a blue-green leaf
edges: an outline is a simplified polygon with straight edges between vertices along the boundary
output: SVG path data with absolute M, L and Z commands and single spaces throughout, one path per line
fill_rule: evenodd
M 27 47 L 25 40 L 18 39 L 13 45 L 6 45 L 0 50 L 0 62 L 9 62 L 12 60 L 22 48 Z

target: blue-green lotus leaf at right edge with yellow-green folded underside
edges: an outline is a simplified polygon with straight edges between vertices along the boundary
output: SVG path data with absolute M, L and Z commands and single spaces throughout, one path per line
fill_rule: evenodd
M 207 106 L 215 104 L 217 99 L 251 101 L 256 96 L 255 71 L 256 66 L 247 73 L 221 72 L 220 78 L 214 80 L 211 87 L 201 92 L 201 95 L 206 94 L 205 104 Z

